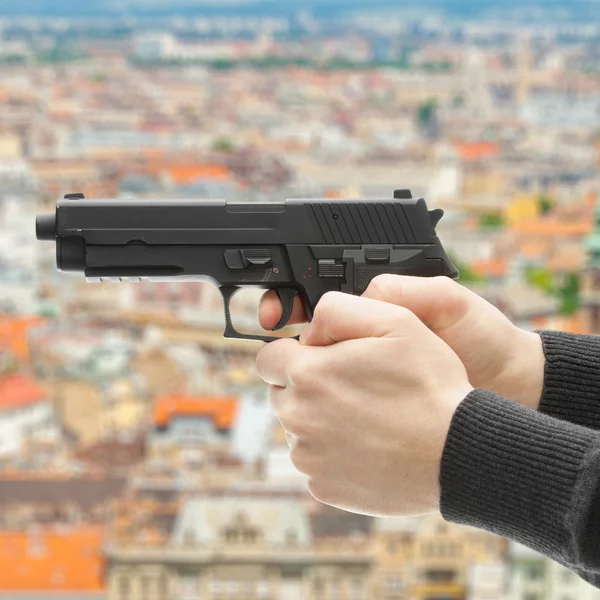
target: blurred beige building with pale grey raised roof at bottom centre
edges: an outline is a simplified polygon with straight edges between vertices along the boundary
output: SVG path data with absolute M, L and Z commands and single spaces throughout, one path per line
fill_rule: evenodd
M 108 598 L 329 598 L 368 594 L 364 544 L 317 548 L 293 499 L 190 499 L 161 548 L 111 543 Z M 343 596 L 342 596 L 343 595 Z

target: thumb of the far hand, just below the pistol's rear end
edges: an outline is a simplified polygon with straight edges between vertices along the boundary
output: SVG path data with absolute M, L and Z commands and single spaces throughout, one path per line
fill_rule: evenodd
M 471 308 L 485 302 L 448 277 L 402 275 L 376 277 L 363 297 L 407 308 L 436 333 L 456 325 Z

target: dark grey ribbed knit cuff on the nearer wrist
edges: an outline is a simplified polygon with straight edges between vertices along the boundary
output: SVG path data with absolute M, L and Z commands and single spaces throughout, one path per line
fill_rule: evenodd
M 475 390 L 458 407 L 446 440 L 442 516 L 567 560 L 573 489 L 595 435 Z

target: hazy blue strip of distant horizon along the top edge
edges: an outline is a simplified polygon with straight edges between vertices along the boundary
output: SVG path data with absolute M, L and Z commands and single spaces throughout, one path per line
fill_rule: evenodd
M 0 15 L 163 15 L 163 14 L 279 14 L 291 15 L 309 9 L 327 17 L 368 8 L 412 8 L 431 6 L 446 13 L 468 17 L 490 10 L 523 9 L 568 10 L 573 18 L 589 18 L 600 14 L 597 0 L 0 0 Z

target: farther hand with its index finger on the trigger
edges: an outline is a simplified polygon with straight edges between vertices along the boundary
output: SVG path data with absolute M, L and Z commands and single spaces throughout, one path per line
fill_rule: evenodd
M 456 352 L 474 387 L 527 408 L 539 407 L 546 362 L 540 336 L 519 329 L 477 294 L 447 277 L 381 275 L 371 282 L 364 297 L 413 312 Z M 272 328 L 280 317 L 277 296 L 265 294 L 261 324 Z M 292 320 L 306 320 L 299 301 Z

